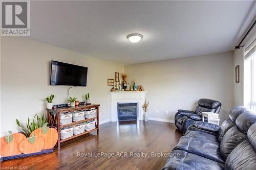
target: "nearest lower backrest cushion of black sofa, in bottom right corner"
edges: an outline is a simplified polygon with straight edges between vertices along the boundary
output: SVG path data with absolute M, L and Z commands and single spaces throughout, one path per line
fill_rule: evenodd
M 256 153 L 248 138 L 241 142 L 228 155 L 225 162 L 225 169 L 256 169 Z

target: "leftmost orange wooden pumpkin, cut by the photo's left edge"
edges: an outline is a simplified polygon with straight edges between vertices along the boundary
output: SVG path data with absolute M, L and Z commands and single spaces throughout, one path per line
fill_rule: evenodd
M 19 151 L 19 143 L 26 139 L 26 136 L 22 133 L 12 134 L 9 131 L 9 135 L 1 138 L 0 155 L 13 156 L 19 155 L 22 152 Z

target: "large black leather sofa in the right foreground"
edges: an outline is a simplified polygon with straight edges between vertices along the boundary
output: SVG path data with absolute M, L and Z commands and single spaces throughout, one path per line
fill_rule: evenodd
M 236 106 L 221 126 L 194 123 L 162 169 L 256 169 L 255 122 L 255 112 Z

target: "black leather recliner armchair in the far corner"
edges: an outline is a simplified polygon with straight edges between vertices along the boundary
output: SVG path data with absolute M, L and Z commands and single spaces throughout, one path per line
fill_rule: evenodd
M 200 99 L 195 111 L 179 109 L 175 114 L 175 126 L 184 134 L 194 122 L 202 121 L 202 112 L 219 113 L 221 103 L 211 99 Z M 205 119 L 207 121 L 207 117 Z

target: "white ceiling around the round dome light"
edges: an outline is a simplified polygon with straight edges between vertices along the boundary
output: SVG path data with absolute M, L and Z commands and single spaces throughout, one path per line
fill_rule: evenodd
M 132 64 L 231 51 L 255 15 L 255 1 L 31 1 L 30 38 Z

